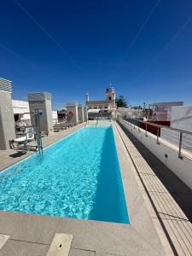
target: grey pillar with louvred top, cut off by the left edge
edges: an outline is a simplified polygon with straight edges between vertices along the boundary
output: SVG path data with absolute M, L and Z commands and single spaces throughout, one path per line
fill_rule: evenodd
M 11 81 L 0 78 L 0 150 L 10 148 L 15 139 L 15 119 L 11 101 Z

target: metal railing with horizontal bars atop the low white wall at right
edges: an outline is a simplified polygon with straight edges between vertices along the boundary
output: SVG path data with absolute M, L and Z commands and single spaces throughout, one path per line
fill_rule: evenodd
M 141 119 L 119 118 L 119 121 L 122 121 L 125 125 L 130 125 L 133 129 L 138 129 L 138 132 L 141 132 L 141 129 L 143 129 L 143 127 L 140 127 L 140 124 L 144 124 L 145 129 L 143 131 L 145 131 L 146 137 L 148 137 L 148 133 L 152 134 L 152 132 L 148 131 L 148 127 L 154 126 L 156 132 L 153 134 L 156 136 L 157 144 L 160 144 L 160 139 L 163 139 L 177 148 L 178 158 L 181 160 L 183 160 L 183 154 L 186 155 L 186 153 L 191 154 L 190 157 L 192 157 L 192 132 L 190 131 L 184 131 L 166 125 L 157 125 Z

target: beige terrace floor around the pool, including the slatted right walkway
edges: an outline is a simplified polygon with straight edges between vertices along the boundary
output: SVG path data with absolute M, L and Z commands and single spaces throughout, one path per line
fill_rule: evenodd
M 44 137 L 44 147 L 83 125 Z M 0 255 L 44 256 L 55 233 L 73 234 L 70 256 L 192 255 L 191 190 L 117 123 L 113 133 L 131 224 L 0 212 L 9 236 Z M 0 170 L 29 154 L 0 151 Z

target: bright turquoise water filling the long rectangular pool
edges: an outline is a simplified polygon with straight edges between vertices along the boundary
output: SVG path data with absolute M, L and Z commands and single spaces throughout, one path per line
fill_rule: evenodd
M 128 224 L 112 127 L 83 128 L 0 173 L 0 210 Z

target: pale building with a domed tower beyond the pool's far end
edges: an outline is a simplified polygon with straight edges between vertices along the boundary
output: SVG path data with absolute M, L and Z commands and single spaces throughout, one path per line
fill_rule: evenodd
M 93 100 L 90 101 L 89 94 L 85 95 L 85 104 L 87 110 L 99 109 L 104 112 L 111 113 L 113 117 L 116 114 L 116 103 L 115 103 L 115 90 L 110 83 L 105 94 L 105 100 Z

